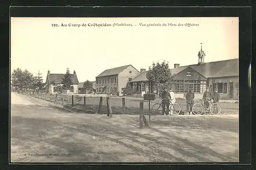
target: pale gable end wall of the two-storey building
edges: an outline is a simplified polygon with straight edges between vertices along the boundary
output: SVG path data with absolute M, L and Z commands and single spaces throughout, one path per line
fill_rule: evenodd
M 131 71 L 131 73 L 130 73 Z M 129 82 L 129 79 L 134 79 L 136 76 L 138 76 L 140 72 L 135 69 L 133 66 L 129 66 L 126 69 L 124 69 L 120 74 L 118 75 L 118 91 L 120 95 L 122 95 L 121 91 L 122 88 L 126 86 L 127 82 Z

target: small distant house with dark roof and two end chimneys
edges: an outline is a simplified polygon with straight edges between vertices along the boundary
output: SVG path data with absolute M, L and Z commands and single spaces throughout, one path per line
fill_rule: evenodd
M 65 74 L 51 74 L 50 71 L 48 70 L 47 78 L 46 78 L 46 84 L 47 84 L 47 92 L 48 93 L 57 93 L 57 85 L 63 85 L 62 84 L 62 79 L 64 78 Z M 78 93 L 78 79 L 76 75 L 76 71 L 74 70 L 74 74 L 70 74 L 72 78 L 72 86 L 73 86 L 73 91 L 69 91 L 68 93 Z

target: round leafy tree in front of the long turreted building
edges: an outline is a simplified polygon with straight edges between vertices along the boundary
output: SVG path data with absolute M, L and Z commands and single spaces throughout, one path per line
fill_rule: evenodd
M 152 67 L 149 67 L 146 73 L 146 78 L 150 82 L 150 85 L 158 89 L 159 95 L 159 92 L 162 92 L 164 88 L 168 88 L 170 82 L 173 80 L 168 62 L 163 61 L 161 64 L 159 62 L 153 62 Z

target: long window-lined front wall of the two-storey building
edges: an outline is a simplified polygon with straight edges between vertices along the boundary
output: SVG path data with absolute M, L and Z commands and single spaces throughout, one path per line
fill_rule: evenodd
M 96 78 L 96 82 L 95 82 L 96 93 L 98 92 L 97 88 L 98 88 L 98 90 L 100 90 L 100 87 L 102 87 L 102 86 L 106 86 L 107 93 L 111 92 L 111 87 L 113 88 L 113 92 L 114 92 L 114 88 L 115 87 L 117 88 L 117 83 L 115 83 L 115 78 L 117 78 L 117 75 Z M 105 84 L 105 79 L 106 79 L 106 84 Z M 108 83 L 108 79 L 109 79 L 109 83 Z M 113 79 L 113 83 L 111 83 L 111 79 Z M 101 84 L 97 84 L 97 80 L 101 80 Z M 104 80 L 104 84 L 102 84 L 102 80 Z M 118 80 L 117 80 L 117 82 L 118 82 Z M 109 88 L 110 92 L 108 92 L 108 88 Z

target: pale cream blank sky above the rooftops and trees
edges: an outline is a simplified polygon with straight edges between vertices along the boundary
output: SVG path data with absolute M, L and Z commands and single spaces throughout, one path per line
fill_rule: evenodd
M 109 23 L 111 27 L 89 27 L 89 23 Z M 131 23 L 133 27 L 113 27 L 114 23 Z M 161 26 L 147 27 L 149 23 Z M 187 27 L 187 23 L 197 26 Z M 71 73 L 76 71 L 79 82 L 95 81 L 105 69 L 123 65 L 132 64 L 140 70 L 164 60 L 170 68 L 175 63 L 197 64 L 200 43 L 205 62 L 239 58 L 239 18 L 12 17 L 10 40 L 11 70 L 19 67 L 34 75 L 39 70 L 45 81 L 48 70 L 65 74 L 69 68 Z

